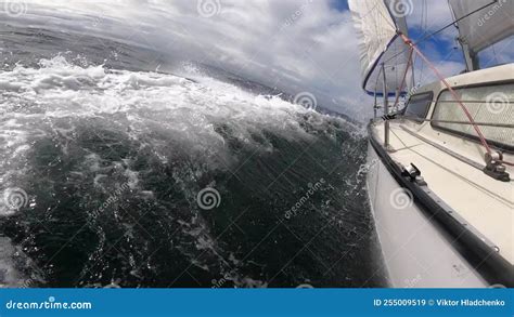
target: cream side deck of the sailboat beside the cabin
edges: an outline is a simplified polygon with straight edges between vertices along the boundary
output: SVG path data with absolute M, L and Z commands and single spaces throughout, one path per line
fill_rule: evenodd
M 372 131 L 382 143 L 384 124 Z M 483 147 L 473 141 L 434 130 L 428 122 L 391 120 L 390 157 L 402 166 L 414 163 L 428 188 L 440 197 L 470 227 L 474 227 L 499 254 L 514 263 L 514 169 L 507 167 L 511 182 L 500 182 L 486 175 L 468 162 L 455 158 L 434 144 L 485 166 Z M 512 155 L 504 158 L 514 161 Z

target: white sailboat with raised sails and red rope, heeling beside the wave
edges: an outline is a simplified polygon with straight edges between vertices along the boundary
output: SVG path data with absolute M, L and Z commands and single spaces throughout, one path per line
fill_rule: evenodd
M 445 78 L 400 0 L 349 0 L 374 97 L 367 186 L 389 287 L 513 287 L 514 64 L 478 56 L 514 34 L 514 1 L 449 0 L 466 69 Z M 437 80 L 417 85 L 413 61 Z M 401 100 L 406 100 L 401 107 Z M 371 98 L 370 98 L 371 100 Z

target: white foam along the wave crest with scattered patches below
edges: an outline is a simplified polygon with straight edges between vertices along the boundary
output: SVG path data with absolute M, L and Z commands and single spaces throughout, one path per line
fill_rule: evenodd
M 311 140 L 314 136 L 301 126 L 305 120 L 324 131 L 326 118 L 323 115 L 279 96 L 254 95 L 207 77 L 195 79 L 197 81 L 157 72 L 108 70 L 103 66 L 81 67 L 67 63 L 62 56 L 42 60 L 38 68 L 17 65 L 10 71 L 0 71 L 0 89 L 4 88 L 0 93 L 0 111 L 4 114 L 0 121 L 0 180 L 9 179 L 10 173 L 23 172 L 10 162 L 29 151 L 37 138 L 52 136 L 46 135 L 48 128 L 68 138 L 75 133 L 75 120 L 81 118 L 106 119 L 110 126 L 118 124 L 119 131 L 140 141 L 142 147 L 146 142 L 152 143 L 153 154 L 164 163 L 169 161 L 166 142 L 172 140 L 181 150 L 206 164 L 213 164 L 214 156 L 223 159 L 222 164 L 213 167 L 221 169 L 229 168 L 234 156 L 218 131 L 220 127 L 226 127 L 231 137 L 264 151 L 273 150 L 264 137 L 267 131 L 290 141 Z M 20 105 L 25 106 L 20 108 Z M 62 118 L 73 121 L 61 127 L 55 122 Z M 86 155 L 82 163 L 95 174 L 94 186 L 102 187 L 111 167 L 104 167 L 95 153 Z M 137 187 L 139 174 L 123 169 L 128 186 Z M 147 197 L 153 195 L 143 193 Z M 191 224 L 184 225 L 184 233 L 194 238 L 197 250 L 222 259 L 202 220 L 193 217 Z M 9 254 L 0 254 L 0 268 L 7 265 L 1 261 L 9 257 Z M 193 264 L 208 269 L 205 263 Z M 266 287 L 261 281 L 245 277 L 234 278 L 234 283 Z

